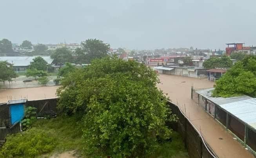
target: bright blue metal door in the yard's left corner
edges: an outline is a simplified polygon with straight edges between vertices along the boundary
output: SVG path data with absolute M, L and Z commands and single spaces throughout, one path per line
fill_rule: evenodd
M 23 119 L 25 115 L 25 109 L 23 104 L 16 104 L 10 106 L 11 124 L 15 124 Z

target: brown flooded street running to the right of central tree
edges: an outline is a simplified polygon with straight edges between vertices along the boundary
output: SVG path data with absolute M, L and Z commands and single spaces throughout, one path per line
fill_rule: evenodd
M 220 158 L 253 158 L 254 156 L 233 139 L 223 126 L 207 114 L 203 108 L 196 105 L 191 97 L 191 85 L 195 89 L 213 87 L 214 82 L 176 75 L 159 75 L 160 84 L 157 86 L 169 98 L 177 103 L 194 126 L 201 132 L 207 143 Z M 222 139 L 219 139 L 222 138 Z

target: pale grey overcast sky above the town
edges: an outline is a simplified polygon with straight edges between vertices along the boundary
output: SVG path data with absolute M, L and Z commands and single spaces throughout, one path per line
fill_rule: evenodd
M 1 0 L 0 39 L 112 48 L 256 45 L 256 0 Z

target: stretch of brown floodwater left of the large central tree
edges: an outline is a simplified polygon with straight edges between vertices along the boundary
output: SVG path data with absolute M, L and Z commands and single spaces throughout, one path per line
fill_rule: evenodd
M 20 89 L 0 89 L 0 103 L 11 99 L 27 98 L 28 100 L 55 98 L 56 89 L 60 86 L 32 87 Z

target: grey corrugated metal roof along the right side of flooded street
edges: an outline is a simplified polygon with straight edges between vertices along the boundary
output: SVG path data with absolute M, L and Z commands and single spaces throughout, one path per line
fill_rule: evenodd
M 219 105 L 230 114 L 256 129 L 256 98 L 236 96 L 229 98 L 211 97 L 214 88 L 203 89 L 196 93 Z

